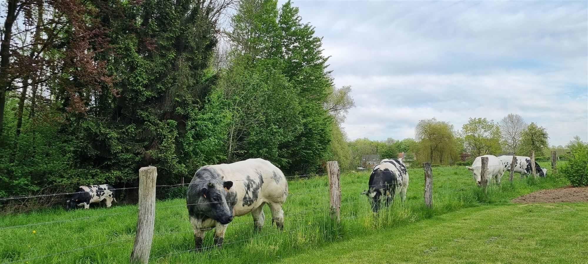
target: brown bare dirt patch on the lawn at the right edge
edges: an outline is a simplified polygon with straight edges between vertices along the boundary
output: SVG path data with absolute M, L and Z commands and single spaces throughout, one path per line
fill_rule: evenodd
M 588 187 L 542 189 L 513 199 L 511 202 L 588 202 Z

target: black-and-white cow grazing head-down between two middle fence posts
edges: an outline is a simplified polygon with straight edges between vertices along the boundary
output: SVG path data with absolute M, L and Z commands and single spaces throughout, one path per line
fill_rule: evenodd
M 385 159 L 373 167 L 369 176 L 368 189 L 362 194 L 368 195 L 372 211 L 378 212 L 382 201 L 385 202 L 386 207 L 389 206 L 397 192 L 400 192 L 402 202 L 406 200 L 408 180 L 408 172 L 402 160 Z

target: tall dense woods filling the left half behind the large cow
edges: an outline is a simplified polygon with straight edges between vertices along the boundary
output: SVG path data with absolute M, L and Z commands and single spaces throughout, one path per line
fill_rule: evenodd
M 2 196 L 135 182 L 146 165 L 178 183 L 252 157 L 306 174 L 349 154 L 350 87 L 333 87 L 290 2 L 9 0 L 4 12 Z

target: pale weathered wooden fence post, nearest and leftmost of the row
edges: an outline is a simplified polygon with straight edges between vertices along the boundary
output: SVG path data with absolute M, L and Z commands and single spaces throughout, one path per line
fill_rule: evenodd
M 131 263 L 148 263 L 155 227 L 155 181 L 157 168 L 153 166 L 139 169 L 139 214 L 135 245 L 131 253 Z

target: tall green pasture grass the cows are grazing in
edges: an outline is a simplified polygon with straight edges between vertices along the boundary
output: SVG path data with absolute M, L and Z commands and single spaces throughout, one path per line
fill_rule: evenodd
M 491 186 L 486 195 L 475 187 L 470 171 L 465 168 L 434 167 L 435 208 L 431 211 L 423 207 L 423 170 L 409 169 L 409 175 L 405 204 L 400 204 L 397 199 L 393 207 L 375 216 L 370 211 L 368 199 L 360 195 L 366 189 L 369 174 L 342 174 L 340 224 L 333 223 L 327 216 L 329 191 L 326 177 L 289 181 L 290 194 L 284 204 L 285 232 L 278 232 L 266 220 L 263 230 L 255 233 L 250 223 L 252 218 L 246 215 L 229 224 L 223 249 L 201 253 L 183 252 L 193 248 L 185 199 L 158 201 L 151 262 L 273 262 L 326 245 L 338 245 L 339 241 L 400 230 L 413 222 L 446 212 L 507 202 L 537 189 L 567 184 L 554 177 L 522 180 L 518 174 L 515 181 L 509 183 L 506 174 L 503 184 Z M 269 210 L 264 211 L 266 219 L 270 219 Z M 71 219 L 75 220 L 69 221 Z M 28 225 L 44 222 L 52 223 Z M 17 260 L 24 260 L 21 263 L 123 263 L 128 262 L 133 245 L 136 205 L 69 212 L 47 209 L 0 216 L 0 228 L 11 226 L 18 227 L 0 229 L 0 263 Z M 212 236 L 212 232 L 207 233 L 205 245 L 212 245 Z M 69 252 L 60 253 L 64 251 Z

